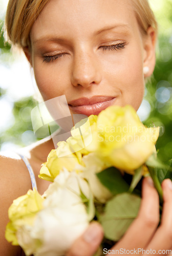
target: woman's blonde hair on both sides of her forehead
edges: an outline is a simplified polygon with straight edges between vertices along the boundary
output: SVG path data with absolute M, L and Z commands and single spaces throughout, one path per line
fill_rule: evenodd
M 30 46 L 30 31 L 41 10 L 50 0 L 9 0 L 5 29 L 6 38 L 19 47 Z M 115 1 L 115 0 L 114 0 Z M 131 0 L 136 18 L 143 34 L 148 27 L 157 31 L 154 13 L 149 7 L 148 0 Z

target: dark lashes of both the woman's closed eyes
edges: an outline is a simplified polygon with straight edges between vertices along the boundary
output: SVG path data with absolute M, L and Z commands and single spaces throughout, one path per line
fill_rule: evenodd
M 111 45 L 111 46 L 100 46 L 100 48 L 102 48 L 103 51 L 117 51 L 117 50 L 121 50 L 124 49 L 126 46 L 126 44 L 124 42 L 122 42 L 121 44 L 117 44 L 117 45 Z M 45 56 L 43 59 L 43 62 L 50 62 L 50 61 L 54 61 L 62 56 L 67 55 L 66 53 L 62 53 L 62 54 L 57 54 L 57 55 L 53 55 L 53 56 Z

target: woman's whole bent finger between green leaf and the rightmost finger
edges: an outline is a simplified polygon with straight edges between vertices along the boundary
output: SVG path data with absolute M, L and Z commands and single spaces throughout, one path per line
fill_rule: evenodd
M 115 248 L 144 248 L 153 237 L 159 224 L 159 196 L 151 178 L 142 183 L 142 201 L 138 217 L 128 228 Z M 125 247 L 124 247 L 125 246 Z

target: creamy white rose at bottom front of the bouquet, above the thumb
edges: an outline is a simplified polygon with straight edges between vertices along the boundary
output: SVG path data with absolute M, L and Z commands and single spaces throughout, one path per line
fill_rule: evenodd
M 81 186 L 81 187 L 80 187 Z M 45 192 L 44 209 L 38 212 L 31 237 L 42 244 L 36 256 L 62 256 L 89 225 L 80 189 L 89 196 L 89 186 L 78 174 L 60 172 Z

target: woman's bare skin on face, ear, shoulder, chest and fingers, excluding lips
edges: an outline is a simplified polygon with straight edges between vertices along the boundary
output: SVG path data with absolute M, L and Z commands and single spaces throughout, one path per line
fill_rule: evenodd
M 116 27 L 117 24 L 122 26 Z M 51 0 L 34 23 L 30 37 L 31 48 L 24 51 L 44 100 L 64 94 L 68 102 L 95 95 L 114 96 L 114 104 L 131 104 L 136 110 L 139 108 L 144 93 L 143 67 L 149 67 L 146 76 L 150 76 L 155 66 L 156 33 L 151 27 L 146 36 L 140 33 L 130 1 L 71 0 L 69 5 L 67 0 Z M 112 49 L 119 44 L 124 44 L 124 47 L 107 50 L 108 46 Z M 43 61 L 57 54 L 60 56 L 54 61 Z M 71 109 L 71 113 L 75 112 Z M 29 159 L 41 194 L 49 182 L 38 179 L 37 175 L 53 147 L 52 140 L 47 138 L 21 150 Z M 27 193 L 31 181 L 24 162 L 17 156 L 12 157 L 9 153 L 8 156 L 2 155 L 0 160 L 0 169 L 3 170 L 0 187 L 0 208 L 3 209 L 0 238 L 3 246 L 0 254 L 15 256 L 20 255 L 20 248 L 12 247 L 4 239 L 7 211 L 15 198 Z M 171 181 L 163 181 L 162 188 L 164 206 L 160 227 L 158 194 L 152 180 L 146 178 L 138 218 L 115 249 L 172 248 Z M 101 226 L 91 224 L 74 242 L 67 256 L 94 255 L 102 238 Z

